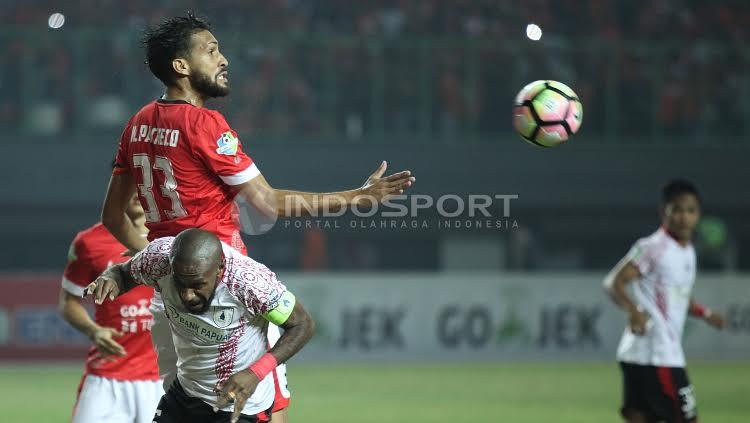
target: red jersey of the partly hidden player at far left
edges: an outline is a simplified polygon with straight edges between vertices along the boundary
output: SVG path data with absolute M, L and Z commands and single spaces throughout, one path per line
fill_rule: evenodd
M 124 245 L 101 223 L 79 232 L 68 253 L 68 264 L 62 279 L 67 292 L 81 296 L 83 289 L 107 267 L 127 261 Z M 96 347 L 91 347 L 86 359 L 86 373 L 117 380 L 158 380 L 159 366 L 151 343 L 154 318 L 149 312 L 153 288 L 139 285 L 127 293 L 106 300 L 96 306 L 94 321 L 100 326 L 123 332 L 115 338 L 127 355 L 113 361 L 102 359 Z

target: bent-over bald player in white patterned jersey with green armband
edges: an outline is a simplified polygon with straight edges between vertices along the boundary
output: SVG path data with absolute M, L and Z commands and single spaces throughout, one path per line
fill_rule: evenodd
M 270 373 L 314 331 L 309 314 L 276 275 L 216 235 L 188 229 L 155 239 L 87 290 L 101 303 L 138 284 L 161 292 L 177 353 L 177 380 L 154 422 L 270 421 Z M 270 351 L 269 322 L 284 329 Z

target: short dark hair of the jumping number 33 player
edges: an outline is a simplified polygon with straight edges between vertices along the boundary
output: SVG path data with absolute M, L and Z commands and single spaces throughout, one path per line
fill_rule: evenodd
M 146 49 L 146 64 L 164 85 L 175 82 L 172 60 L 186 56 L 190 51 L 190 37 L 200 31 L 208 31 L 211 24 L 198 18 L 192 11 L 187 17 L 169 18 L 143 32 L 143 47 Z

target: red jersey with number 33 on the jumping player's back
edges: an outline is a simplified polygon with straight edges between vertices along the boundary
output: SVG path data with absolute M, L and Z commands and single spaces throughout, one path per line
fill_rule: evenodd
M 149 240 L 202 228 L 245 252 L 236 192 L 260 172 L 221 113 L 185 101 L 156 100 L 128 122 L 115 173 L 131 172 Z

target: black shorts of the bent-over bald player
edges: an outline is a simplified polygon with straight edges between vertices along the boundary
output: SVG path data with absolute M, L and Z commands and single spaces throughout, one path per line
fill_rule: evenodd
M 254 416 L 241 414 L 238 422 L 262 423 L 271 421 L 271 409 L 258 413 Z M 161 397 L 159 406 L 156 407 L 154 423 L 227 423 L 232 413 L 228 411 L 217 411 L 203 402 L 200 398 L 188 396 L 182 385 L 175 379 L 167 393 Z

